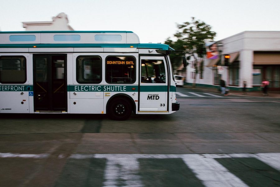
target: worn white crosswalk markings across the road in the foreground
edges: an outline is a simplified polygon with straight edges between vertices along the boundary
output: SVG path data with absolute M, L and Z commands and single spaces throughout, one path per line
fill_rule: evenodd
M 1 158 L 34 158 L 46 159 L 49 154 L 18 154 L 0 153 Z M 58 155 L 58 159 L 67 158 Z M 72 154 L 68 159 L 106 159 L 104 169 L 104 187 L 121 186 L 144 187 L 141 175 L 139 175 L 139 159 L 182 159 L 187 167 L 194 173 L 206 187 L 249 187 L 239 177 L 231 173 L 217 159 L 228 158 L 256 158 L 272 168 L 280 171 L 280 153 L 236 153 L 236 154 Z M 80 162 L 79 162 L 80 163 Z M 76 166 L 76 165 L 75 165 Z M 93 168 L 94 169 L 94 168 Z M 98 169 L 98 168 L 97 168 Z M 68 171 L 68 170 L 67 170 Z M 87 171 L 85 171 L 87 172 Z M 75 179 L 68 179 L 73 180 Z M 60 183 L 59 183 L 60 184 Z

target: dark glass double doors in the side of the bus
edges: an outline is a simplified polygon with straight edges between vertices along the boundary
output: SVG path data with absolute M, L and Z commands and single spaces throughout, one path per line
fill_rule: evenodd
M 34 111 L 67 111 L 66 55 L 33 55 Z

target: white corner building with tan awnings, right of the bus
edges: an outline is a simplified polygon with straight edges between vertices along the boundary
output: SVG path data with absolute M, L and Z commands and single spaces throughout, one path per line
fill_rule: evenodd
M 246 81 L 249 90 L 259 89 L 263 79 L 268 79 L 270 89 L 280 90 L 280 31 L 244 31 L 217 41 L 224 55 L 229 54 L 229 66 L 218 66 L 217 59 L 202 59 L 196 84 L 216 87 L 220 78 L 230 89 L 240 90 Z M 187 67 L 187 83 L 194 82 L 192 61 Z

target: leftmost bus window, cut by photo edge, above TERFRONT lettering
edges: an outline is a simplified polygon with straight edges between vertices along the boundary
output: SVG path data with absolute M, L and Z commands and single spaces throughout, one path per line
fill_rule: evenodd
M 24 56 L 1 56 L 0 82 L 12 84 L 25 83 L 26 58 Z

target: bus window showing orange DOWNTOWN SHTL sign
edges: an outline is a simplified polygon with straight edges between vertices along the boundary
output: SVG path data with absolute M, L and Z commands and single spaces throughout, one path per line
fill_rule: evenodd
M 136 59 L 133 56 L 108 56 L 105 62 L 107 83 L 135 83 Z

